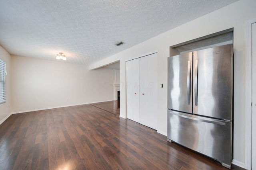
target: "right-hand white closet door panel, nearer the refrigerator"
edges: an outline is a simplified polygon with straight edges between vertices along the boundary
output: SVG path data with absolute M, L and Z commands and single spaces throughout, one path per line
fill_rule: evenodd
M 157 129 L 157 54 L 140 60 L 140 123 Z

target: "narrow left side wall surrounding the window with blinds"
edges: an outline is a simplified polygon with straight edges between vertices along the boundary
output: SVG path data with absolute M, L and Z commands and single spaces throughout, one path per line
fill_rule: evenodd
M 0 124 L 10 114 L 11 107 L 11 56 L 10 54 L 0 46 L 0 59 L 6 62 L 6 102 L 0 105 Z

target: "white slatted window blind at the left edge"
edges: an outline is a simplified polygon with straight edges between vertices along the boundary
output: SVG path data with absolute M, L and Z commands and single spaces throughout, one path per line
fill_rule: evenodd
M 6 102 L 6 88 L 5 88 L 5 78 L 6 78 L 6 63 L 0 59 L 0 104 Z

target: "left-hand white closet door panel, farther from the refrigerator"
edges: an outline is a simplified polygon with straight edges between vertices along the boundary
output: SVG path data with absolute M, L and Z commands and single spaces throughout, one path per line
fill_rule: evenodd
M 139 60 L 126 62 L 127 118 L 140 123 Z

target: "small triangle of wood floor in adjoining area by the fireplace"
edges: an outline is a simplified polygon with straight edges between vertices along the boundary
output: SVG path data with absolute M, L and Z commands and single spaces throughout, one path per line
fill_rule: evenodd
M 90 104 L 114 115 L 120 115 L 120 103 L 118 100 Z

